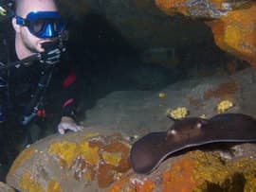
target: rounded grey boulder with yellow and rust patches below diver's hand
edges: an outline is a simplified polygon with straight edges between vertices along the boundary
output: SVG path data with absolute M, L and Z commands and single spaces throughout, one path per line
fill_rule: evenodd
M 7 183 L 19 191 L 98 191 L 130 169 L 130 145 L 119 134 L 53 135 L 26 148 Z

